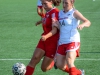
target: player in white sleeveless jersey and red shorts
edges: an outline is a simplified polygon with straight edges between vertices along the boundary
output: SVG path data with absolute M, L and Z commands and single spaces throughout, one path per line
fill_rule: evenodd
M 80 21 L 82 21 L 81 24 L 79 24 Z M 55 23 L 55 26 L 60 29 L 56 65 L 69 75 L 85 74 L 84 70 L 76 68 L 74 61 L 76 57 L 79 57 L 80 34 L 78 29 L 82 30 L 90 24 L 90 21 L 74 8 L 74 0 L 63 0 L 63 10 L 59 12 L 59 24 Z

